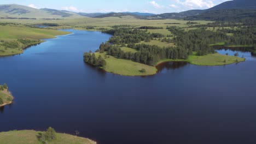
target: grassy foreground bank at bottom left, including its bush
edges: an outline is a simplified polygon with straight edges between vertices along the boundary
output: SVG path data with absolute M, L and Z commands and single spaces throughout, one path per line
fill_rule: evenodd
M 69 134 L 56 133 L 54 129 L 46 131 L 13 130 L 0 133 L 0 142 L 5 144 L 96 144 L 95 141 Z

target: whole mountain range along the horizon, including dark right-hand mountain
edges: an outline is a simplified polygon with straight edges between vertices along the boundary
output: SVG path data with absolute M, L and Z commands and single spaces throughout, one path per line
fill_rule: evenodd
M 246 9 L 246 10 L 245 10 Z M 218 19 L 219 15 L 241 15 L 254 16 L 256 14 L 256 1 L 254 0 L 234 0 L 227 1 L 205 10 L 188 10 L 181 13 L 75 13 L 66 10 L 56 9 L 34 9 L 18 4 L 0 5 L 1 19 L 76 19 L 82 17 L 123 17 L 133 16 L 138 19 Z

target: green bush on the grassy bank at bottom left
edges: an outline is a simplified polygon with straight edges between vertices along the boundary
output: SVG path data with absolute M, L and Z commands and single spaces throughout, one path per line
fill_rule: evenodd
M 37 139 L 42 143 L 48 143 L 50 141 L 53 141 L 56 139 L 56 131 L 53 128 L 49 127 L 43 133 L 38 133 Z

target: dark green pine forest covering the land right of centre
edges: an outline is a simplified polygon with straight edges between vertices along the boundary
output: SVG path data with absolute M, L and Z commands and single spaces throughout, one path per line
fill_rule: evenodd
M 196 24 L 188 22 L 189 25 Z M 213 26 L 225 25 L 223 22 L 208 24 Z M 228 24 L 227 24 L 228 25 Z M 231 23 L 229 23 L 231 25 Z M 206 25 L 207 26 L 207 25 Z M 143 29 L 141 29 L 143 28 Z M 97 52 L 106 52 L 107 55 L 115 58 L 129 59 L 147 65 L 155 65 L 162 59 L 187 59 L 189 55 L 196 52 L 197 56 L 203 56 L 215 53 L 211 45 L 225 43 L 225 45 L 256 45 L 255 26 L 243 27 L 214 27 L 214 31 L 201 27 L 185 31 L 181 27 L 167 26 L 168 31 L 172 33 L 173 38 L 166 38 L 160 33 L 149 33 L 147 29 L 156 29 L 157 27 L 131 27 L 131 26 L 113 26 L 112 29 L 103 31 L 112 34 L 113 37 L 108 42 L 102 43 Z M 228 35 L 227 33 L 231 33 Z M 160 47 L 157 45 L 139 44 L 141 41 L 150 41 L 161 39 L 162 42 L 174 43 L 175 46 Z M 130 47 L 137 52 L 124 52 L 122 46 Z M 94 60 L 91 60 L 94 59 Z M 93 54 L 85 53 L 85 62 L 97 65 Z

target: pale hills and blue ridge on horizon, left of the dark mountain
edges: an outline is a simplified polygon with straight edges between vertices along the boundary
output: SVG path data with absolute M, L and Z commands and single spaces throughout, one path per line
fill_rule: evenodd
M 56 10 L 56 9 L 34 9 L 18 4 L 2 4 L 0 5 L 0 17 L 2 19 L 77 19 L 83 17 L 120 17 L 120 16 L 151 16 L 154 14 L 150 13 L 74 13 L 67 10 Z

